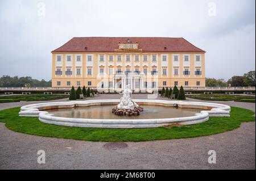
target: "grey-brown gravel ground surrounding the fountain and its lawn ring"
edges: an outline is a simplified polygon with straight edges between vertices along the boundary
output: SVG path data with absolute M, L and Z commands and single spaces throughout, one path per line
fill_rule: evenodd
M 133 95 L 133 98 L 146 96 Z M 93 99 L 119 97 L 100 95 Z M 35 102 L 2 103 L 0 110 L 31 103 Z M 254 103 L 218 103 L 255 111 Z M 105 142 L 16 133 L 0 123 L 0 143 L 0 169 L 255 169 L 255 122 L 242 123 L 234 131 L 212 136 L 126 142 L 127 148 L 117 150 L 104 148 Z M 38 150 L 46 151 L 45 164 L 37 162 Z M 209 150 L 216 150 L 216 164 L 208 163 Z

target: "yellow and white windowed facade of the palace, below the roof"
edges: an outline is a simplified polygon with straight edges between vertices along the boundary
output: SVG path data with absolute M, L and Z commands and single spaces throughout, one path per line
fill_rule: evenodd
M 120 56 L 121 60 L 118 60 Z M 128 71 L 131 71 L 129 75 Z M 155 74 L 151 74 L 151 71 L 155 71 Z M 143 51 L 52 52 L 52 87 L 98 87 L 108 92 L 122 90 L 123 85 L 130 83 L 133 90 L 141 91 L 174 87 L 175 82 L 178 87 L 205 87 L 205 54 Z

